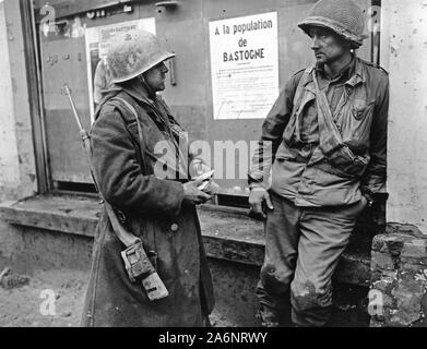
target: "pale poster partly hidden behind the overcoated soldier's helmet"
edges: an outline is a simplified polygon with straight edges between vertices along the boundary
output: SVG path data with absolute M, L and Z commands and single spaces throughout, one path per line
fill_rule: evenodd
M 111 85 L 111 74 L 106 61 L 111 39 L 132 29 L 144 29 L 156 34 L 155 19 L 150 17 L 86 28 L 87 81 L 92 122 L 94 122 L 96 105 L 100 101 L 103 93 Z

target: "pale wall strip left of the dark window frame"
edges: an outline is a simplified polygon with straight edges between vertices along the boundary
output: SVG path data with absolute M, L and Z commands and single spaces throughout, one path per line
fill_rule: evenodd
M 20 2 L 0 1 L 0 200 L 36 190 Z

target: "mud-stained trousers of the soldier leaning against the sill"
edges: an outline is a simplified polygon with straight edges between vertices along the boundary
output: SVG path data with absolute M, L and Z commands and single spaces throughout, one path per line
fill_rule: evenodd
M 271 326 L 324 326 L 332 312 L 332 276 L 364 202 L 339 207 L 297 207 L 271 192 L 265 258 L 257 296 Z

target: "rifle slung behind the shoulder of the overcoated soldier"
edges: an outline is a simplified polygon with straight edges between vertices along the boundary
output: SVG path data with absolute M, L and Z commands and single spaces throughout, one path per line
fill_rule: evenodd
M 141 239 L 137 238 L 132 232 L 128 231 L 120 220 L 117 217 L 117 214 L 112 206 L 103 197 L 97 181 L 95 178 L 95 172 L 92 166 L 92 146 L 91 146 L 91 136 L 86 130 L 83 129 L 81 119 L 79 117 L 78 110 L 75 108 L 73 98 L 71 96 L 71 89 L 66 84 L 64 85 L 66 95 L 71 105 L 75 121 L 79 125 L 80 135 L 83 141 L 83 151 L 90 166 L 92 179 L 96 186 L 96 190 L 99 196 L 103 200 L 104 207 L 107 212 L 108 218 L 111 222 L 112 230 L 115 231 L 117 238 L 124 244 L 127 248 L 121 252 L 121 257 L 124 262 L 126 270 L 128 272 L 129 279 L 131 282 L 135 282 L 139 277 L 142 277 L 142 286 L 144 287 L 146 294 L 150 301 L 159 300 L 169 296 L 165 285 L 163 284 L 161 277 L 158 276 L 156 269 L 151 263 L 147 254 L 144 251 L 143 243 Z

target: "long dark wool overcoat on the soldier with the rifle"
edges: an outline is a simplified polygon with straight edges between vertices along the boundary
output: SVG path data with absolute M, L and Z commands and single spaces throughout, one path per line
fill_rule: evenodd
M 123 99 L 139 116 L 141 137 Z M 154 176 L 155 147 L 171 144 L 175 119 L 138 80 L 115 86 L 96 117 L 91 139 L 98 189 L 122 213 L 126 227 L 157 253 L 157 273 L 169 296 L 152 302 L 141 282 L 130 281 L 120 255 L 126 248 L 103 209 L 82 326 L 202 326 L 214 298 L 197 210 L 183 201 L 182 180 Z

